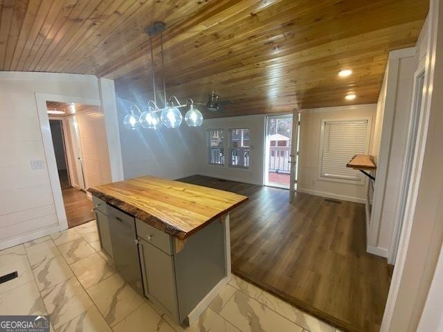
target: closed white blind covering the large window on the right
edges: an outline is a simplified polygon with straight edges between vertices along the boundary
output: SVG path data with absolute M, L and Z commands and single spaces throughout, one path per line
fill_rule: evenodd
M 363 181 L 361 173 L 346 164 L 368 146 L 368 120 L 323 121 L 320 142 L 320 177 Z

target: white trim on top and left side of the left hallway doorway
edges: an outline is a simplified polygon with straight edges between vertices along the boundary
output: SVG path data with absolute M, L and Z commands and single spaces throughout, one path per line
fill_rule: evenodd
M 51 136 L 51 127 L 49 126 L 49 117 L 46 109 L 46 101 L 53 102 L 75 102 L 78 104 L 88 104 L 100 106 L 100 99 L 96 98 L 79 98 L 71 95 L 54 95 L 51 93 L 35 93 L 35 101 L 37 103 L 37 113 L 39 117 L 40 130 L 42 131 L 42 140 L 46 163 L 48 167 L 49 182 L 53 192 L 55 212 L 60 230 L 68 228 L 66 219 L 66 211 L 64 210 L 62 188 L 60 186 L 60 178 L 58 177 L 57 163 L 55 162 L 55 152 L 53 140 Z M 111 165 L 112 167 L 112 165 Z

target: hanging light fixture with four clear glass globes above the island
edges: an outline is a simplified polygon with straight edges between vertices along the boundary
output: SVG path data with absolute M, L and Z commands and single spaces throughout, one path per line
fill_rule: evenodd
M 181 104 L 174 95 L 169 99 L 166 98 L 166 84 L 165 84 L 165 59 L 163 55 L 163 31 L 166 29 L 166 24 L 163 22 L 154 22 L 154 24 L 145 28 L 145 33 L 150 36 L 150 52 L 152 65 L 152 93 L 153 100 L 149 100 L 144 108 L 143 113 L 140 108 L 133 104 L 129 108 L 129 114 L 123 119 L 123 123 L 127 129 L 160 129 L 162 124 L 167 128 L 178 128 L 183 121 L 183 116 L 180 109 L 182 107 L 189 107 L 185 115 L 185 122 L 189 127 L 199 127 L 203 123 L 203 115 L 195 108 L 195 103 L 188 98 L 186 104 Z M 154 53 L 152 48 L 152 38 L 160 35 L 161 45 L 161 75 L 163 80 L 163 109 L 157 106 L 156 100 L 156 86 L 155 86 L 155 64 Z M 175 103 L 175 104 L 174 104 Z M 200 104 L 200 103 L 199 103 Z M 136 113 L 138 112 L 138 113 Z M 159 116 L 160 113 L 160 116 Z

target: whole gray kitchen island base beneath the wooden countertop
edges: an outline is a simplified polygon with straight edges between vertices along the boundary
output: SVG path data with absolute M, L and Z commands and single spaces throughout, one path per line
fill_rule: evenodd
M 100 246 L 120 276 L 178 324 L 226 277 L 224 223 L 176 248 L 169 234 L 93 196 Z

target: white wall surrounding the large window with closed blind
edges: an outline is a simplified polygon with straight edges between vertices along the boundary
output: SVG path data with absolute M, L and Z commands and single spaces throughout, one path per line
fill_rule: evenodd
M 300 126 L 300 152 L 298 165 L 298 191 L 345 201 L 365 203 L 368 179 L 364 183 L 343 183 L 318 178 L 318 156 L 322 120 L 371 119 L 370 142 L 374 132 L 376 104 L 325 107 L 302 111 Z M 345 165 L 343 165 L 345 167 Z

